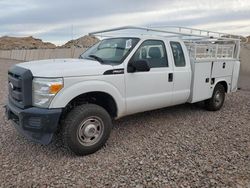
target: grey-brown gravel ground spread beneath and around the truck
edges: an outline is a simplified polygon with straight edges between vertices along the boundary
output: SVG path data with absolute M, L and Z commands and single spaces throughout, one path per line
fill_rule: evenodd
M 14 63 L 0 60 L 0 104 Z M 243 87 L 218 112 L 185 104 L 123 118 L 106 147 L 85 157 L 59 138 L 26 140 L 1 108 L 0 187 L 250 187 L 249 99 Z

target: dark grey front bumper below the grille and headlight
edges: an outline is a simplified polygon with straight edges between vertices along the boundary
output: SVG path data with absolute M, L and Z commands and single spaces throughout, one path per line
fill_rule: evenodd
M 62 109 L 42 109 L 31 107 L 21 109 L 9 102 L 6 105 L 6 116 L 15 128 L 28 139 L 49 144 L 57 130 Z

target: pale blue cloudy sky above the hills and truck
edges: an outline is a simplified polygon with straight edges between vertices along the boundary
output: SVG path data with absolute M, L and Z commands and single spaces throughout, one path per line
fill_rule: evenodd
M 63 44 L 124 25 L 177 25 L 250 35 L 250 0 L 0 0 L 0 36 Z M 73 29 L 72 29 L 73 28 Z

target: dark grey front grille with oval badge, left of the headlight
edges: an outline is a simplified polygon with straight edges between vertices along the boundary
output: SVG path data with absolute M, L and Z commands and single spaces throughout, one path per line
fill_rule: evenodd
M 32 73 L 30 70 L 13 66 L 8 72 L 9 100 L 19 108 L 32 105 Z

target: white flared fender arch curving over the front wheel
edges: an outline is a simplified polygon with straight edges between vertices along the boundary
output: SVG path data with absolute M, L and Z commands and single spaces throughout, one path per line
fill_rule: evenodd
M 126 112 L 125 97 L 112 84 L 99 81 L 82 81 L 78 83 L 65 83 L 64 88 L 54 97 L 49 108 L 64 108 L 75 97 L 89 92 L 104 92 L 111 95 L 117 105 L 118 117 Z

